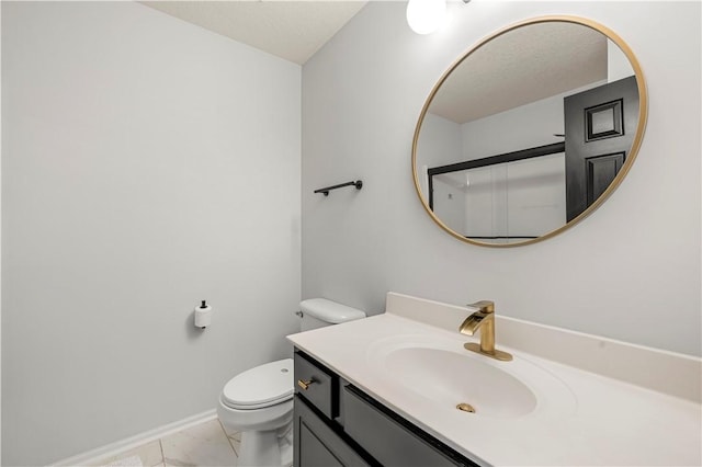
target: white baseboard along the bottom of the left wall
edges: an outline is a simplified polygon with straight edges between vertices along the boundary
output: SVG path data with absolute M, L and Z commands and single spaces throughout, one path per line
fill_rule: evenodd
M 50 466 L 81 466 L 81 465 L 94 465 L 101 459 L 116 456 L 125 451 L 134 449 L 151 441 L 156 441 L 160 437 L 168 436 L 169 434 L 177 433 L 179 431 L 188 430 L 200 423 L 208 422 L 217 418 L 217 411 L 215 409 L 207 410 L 206 412 L 199 413 L 196 415 L 188 417 L 186 419 L 179 420 L 173 423 L 169 423 L 154 430 L 148 430 L 144 433 L 135 436 L 129 436 L 125 440 L 117 441 L 115 443 L 107 444 L 102 447 L 89 451 L 87 453 L 79 454 L 77 456 L 69 457 L 64 460 L 52 464 Z

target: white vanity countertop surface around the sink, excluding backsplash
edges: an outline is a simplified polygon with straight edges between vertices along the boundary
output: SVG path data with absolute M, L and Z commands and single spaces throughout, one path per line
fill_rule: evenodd
M 553 375 L 565 389 L 558 389 L 557 396 L 554 392 L 554 398 L 542 394 L 534 411 L 517 418 L 475 417 L 458 410 L 438 412 L 417 391 L 403 389 L 396 375 L 378 365 L 376 350 L 383 342 L 423 339 L 463 351 L 464 342 L 476 341 L 457 331 L 386 312 L 288 339 L 344 379 L 479 464 L 702 465 L 699 403 L 500 345 L 499 330 L 497 348 L 512 353 L 514 361 L 486 357 L 494 362 L 490 364 L 514 365 L 512 368 L 525 376 L 522 383 L 528 387 L 532 365 Z M 539 390 L 543 392 L 544 388 Z

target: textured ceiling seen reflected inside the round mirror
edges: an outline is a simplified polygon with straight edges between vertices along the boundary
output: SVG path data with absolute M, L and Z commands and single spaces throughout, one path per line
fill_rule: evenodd
M 429 112 L 466 123 L 607 79 L 607 37 L 575 23 L 512 30 L 474 50 Z

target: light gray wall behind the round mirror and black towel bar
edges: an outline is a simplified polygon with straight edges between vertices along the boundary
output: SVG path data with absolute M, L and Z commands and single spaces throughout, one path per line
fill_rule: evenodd
M 388 291 L 700 355 L 699 2 L 461 2 L 416 35 L 405 4 L 371 2 L 303 67 L 303 297 L 380 312 Z M 575 14 L 618 32 L 644 69 L 649 119 L 624 183 L 575 228 L 510 249 L 435 226 L 411 139 L 442 72 L 490 32 Z M 360 192 L 314 189 L 363 179 Z M 499 330 L 498 338 L 499 340 Z

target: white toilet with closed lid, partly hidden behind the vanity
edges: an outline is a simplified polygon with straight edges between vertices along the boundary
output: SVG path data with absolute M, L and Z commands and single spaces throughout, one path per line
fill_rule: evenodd
M 325 298 L 301 301 L 301 331 L 365 318 L 365 312 Z M 225 385 L 217 415 L 241 432 L 239 467 L 293 464 L 293 360 L 247 369 Z

